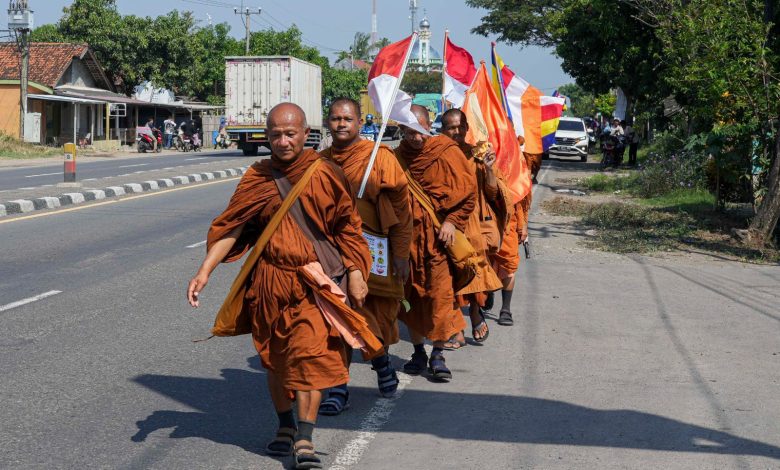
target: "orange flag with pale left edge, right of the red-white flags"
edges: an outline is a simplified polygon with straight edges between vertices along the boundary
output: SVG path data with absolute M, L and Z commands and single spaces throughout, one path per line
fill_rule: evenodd
M 466 141 L 478 147 L 488 142 L 492 145 L 496 152 L 495 165 L 506 178 L 512 200 L 520 202 L 531 191 L 531 175 L 512 122 L 493 89 L 484 62 L 466 92 L 462 110 L 469 123 Z

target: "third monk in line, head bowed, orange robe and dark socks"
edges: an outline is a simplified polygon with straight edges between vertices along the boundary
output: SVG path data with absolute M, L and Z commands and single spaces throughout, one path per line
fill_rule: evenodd
M 412 105 L 412 112 L 424 129 L 430 129 L 426 108 Z M 419 183 L 442 221 L 437 230 L 429 212 L 413 195 L 410 197 L 414 230 L 406 298 L 411 309 L 401 311 L 399 318 L 409 328 L 414 354 L 404 371 L 420 374 L 427 363 L 432 377 L 445 381 L 452 373 L 445 365 L 443 349 L 460 341 L 466 326 L 455 300 L 446 245 L 454 242 L 456 229 L 466 229 L 476 206 L 476 179 L 463 152 L 449 137 L 431 137 L 404 127 L 396 155 L 408 168 L 407 177 L 411 175 Z M 423 345 L 425 338 L 433 341 L 430 360 Z

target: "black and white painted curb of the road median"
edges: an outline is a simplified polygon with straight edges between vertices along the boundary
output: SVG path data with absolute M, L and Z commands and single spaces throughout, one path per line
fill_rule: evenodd
M 56 209 L 63 206 L 72 206 L 83 204 L 90 201 L 99 201 L 110 197 L 124 196 L 127 194 L 145 193 L 149 191 L 159 191 L 175 186 L 182 186 L 191 183 L 200 183 L 222 178 L 232 178 L 243 175 L 248 167 L 229 168 L 226 170 L 207 171 L 204 173 L 193 173 L 187 176 L 174 176 L 171 178 L 160 178 L 158 180 L 148 180 L 142 183 L 127 183 L 121 186 L 108 186 L 103 189 L 85 189 L 80 192 L 63 193 L 58 196 L 39 197 L 35 199 L 15 199 L 0 204 L 0 217 L 15 214 L 26 214 L 44 209 Z

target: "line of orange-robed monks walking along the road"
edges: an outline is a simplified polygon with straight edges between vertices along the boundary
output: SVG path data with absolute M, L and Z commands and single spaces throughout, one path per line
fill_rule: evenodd
M 412 112 L 430 129 L 426 108 Z M 500 291 L 498 324 L 513 323 L 530 195 L 512 202 L 492 149 L 465 142 L 468 123 L 458 109 L 444 113 L 442 135 L 404 127 L 396 149 L 381 145 L 363 184 L 374 142 L 361 139 L 360 118 L 356 101 L 333 101 L 332 146 L 317 152 L 304 147 L 302 109 L 274 107 L 271 158 L 247 170 L 212 222 L 187 291 L 197 307 L 214 268 L 251 250 L 213 333 L 251 333 L 279 418 L 266 452 L 292 455 L 294 468 L 322 465 L 312 442 L 316 418 L 349 406 L 353 349 L 389 398 L 399 385 L 388 355 L 398 320 L 414 346 L 404 372 L 441 382 L 452 379 L 444 352 L 466 345 L 464 313 L 473 340 L 485 342 L 485 311 Z

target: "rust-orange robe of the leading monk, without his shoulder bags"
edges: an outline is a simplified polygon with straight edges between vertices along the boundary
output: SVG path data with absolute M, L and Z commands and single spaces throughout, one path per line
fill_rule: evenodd
M 271 173 L 284 173 L 294 185 L 319 155 L 304 151 L 294 162 L 276 159 L 253 164 L 238 184 L 225 211 L 211 224 L 208 247 L 243 225 L 241 236 L 223 262 L 241 258 L 254 246 L 282 198 Z M 333 163 L 317 169 L 298 199 L 313 224 L 341 253 L 348 271 L 368 277 L 371 263 L 351 191 Z M 326 322 L 302 267 L 317 261 L 314 246 L 288 213 L 263 250 L 244 298 L 252 316 L 252 339 L 263 367 L 289 390 L 322 390 L 349 380 L 342 338 Z

